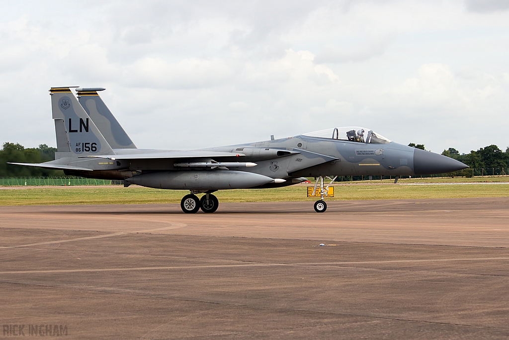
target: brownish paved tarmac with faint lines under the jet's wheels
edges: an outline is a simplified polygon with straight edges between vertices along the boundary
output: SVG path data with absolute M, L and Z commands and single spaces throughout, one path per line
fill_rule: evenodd
M 0 338 L 509 337 L 509 198 L 328 205 L 2 206 Z

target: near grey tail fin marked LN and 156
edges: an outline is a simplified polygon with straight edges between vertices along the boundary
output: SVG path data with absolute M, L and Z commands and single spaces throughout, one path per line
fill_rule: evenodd
M 68 87 L 52 87 L 49 92 L 59 152 L 62 149 L 78 156 L 115 154 Z

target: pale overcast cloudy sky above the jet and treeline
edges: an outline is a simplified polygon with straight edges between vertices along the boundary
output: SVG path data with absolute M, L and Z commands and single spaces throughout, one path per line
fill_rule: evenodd
M 51 86 L 139 148 L 357 125 L 442 152 L 509 145 L 509 1 L 1 1 L 0 142 L 55 146 Z

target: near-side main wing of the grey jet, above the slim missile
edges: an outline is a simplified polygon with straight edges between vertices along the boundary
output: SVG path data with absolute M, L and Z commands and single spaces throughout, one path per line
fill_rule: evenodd
M 100 154 L 88 155 L 79 158 L 103 158 L 107 160 L 153 160 L 175 158 L 216 158 L 216 157 L 240 157 L 243 153 L 222 151 L 168 151 L 160 153 L 132 153 L 132 154 Z

